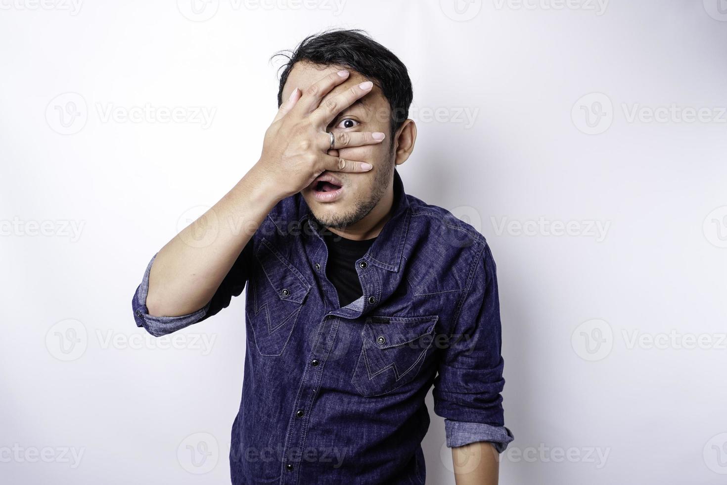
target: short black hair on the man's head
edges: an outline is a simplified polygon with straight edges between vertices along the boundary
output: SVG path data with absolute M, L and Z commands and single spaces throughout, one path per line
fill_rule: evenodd
M 287 54 L 289 52 L 289 54 Z M 339 65 L 360 73 L 381 89 L 391 107 L 391 136 L 409 118 L 409 106 L 414 98 L 406 65 L 386 47 L 371 39 L 368 33 L 354 29 L 334 29 L 303 39 L 293 51 L 278 52 L 288 61 L 281 66 L 278 87 L 278 108 L 283 103 L 283 87 L 290 70 L 301 61 Z

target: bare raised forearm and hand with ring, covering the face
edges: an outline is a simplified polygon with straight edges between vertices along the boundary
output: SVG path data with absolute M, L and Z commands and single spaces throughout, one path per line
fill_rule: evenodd
M 296 88 L 265 132 L 260 160 L 212 209 L 156 254 L 146 295 L 150 316 L 185 316 L 203 308 L 278 201 L 300 192 L 325 170 L 371 169 L 369 164 L 327 153 L 328 124 L 371 91 L 369 86 L 354 85 L 333 96 L 331 102 L 321 103 L 348 79 L 348 71 L 342 73 L 326 76 L 305 93 Z M 346 135 L 345 140 L 337 140 L 336 148 L 381 142 L 369 132 Z

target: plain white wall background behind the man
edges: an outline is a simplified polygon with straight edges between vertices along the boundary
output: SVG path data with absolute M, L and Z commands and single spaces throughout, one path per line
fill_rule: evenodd
M 257 160 L 270 55 L 333 26 L 409 67 L 406 191 L 497 261 L 501 483 L 725 483 L 727 1 L 44 1 L 0 0 L 2 483 L 229 482 L 244 297 L 154 340 L 132 294 Z

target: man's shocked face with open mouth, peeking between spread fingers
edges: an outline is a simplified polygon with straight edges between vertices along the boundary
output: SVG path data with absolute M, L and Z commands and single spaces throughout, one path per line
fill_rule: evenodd
M 340 71 L 338 66 L 323 66 L 311 63 L 296 63 L 290 70 L 283 88 L 282 99 L 286 100 L 296 87 L 303 92 L 311 84 L 320 81 L 329 73 Z M 335 96 L 345 89 L 369 79 L 355 71 L 349 78 L 332 89 L 321 101 Z M 368 95 L 342 111 L 329 125 L 328 131 L 339 132 L 383 132 L 386 138 L 376 145 L 364 145 L 329 151 L 333 156 L 353 161 L 366 161 L 374 168 L 363 173 L 332 172 L 342 183 L 342 192 L 334 201 L 318 201 L 313 196 L 316 188 L 306 187 L 301 192 L 306 204 L 319 223 L 329 228 L 346 228 L 357 223 L 379 204 L 390 189 L 393 180 L 393 140 L 390 138 L 391 108 L 381 89 L 374 85 Z

